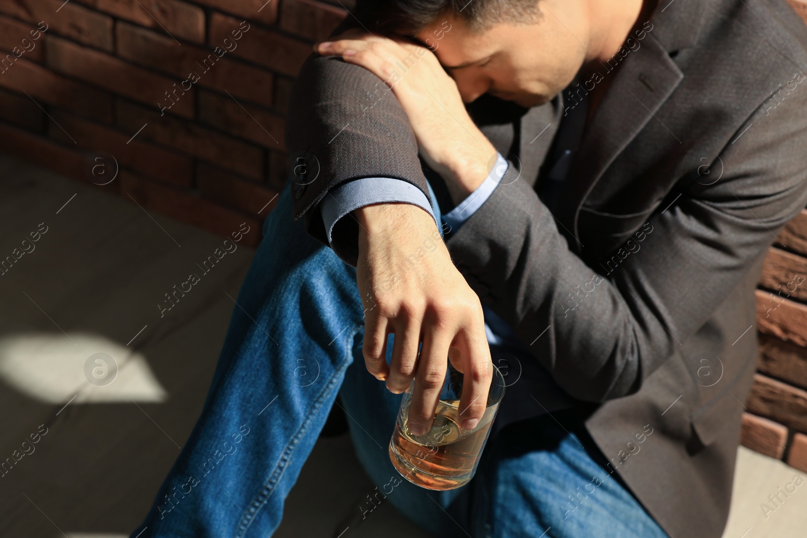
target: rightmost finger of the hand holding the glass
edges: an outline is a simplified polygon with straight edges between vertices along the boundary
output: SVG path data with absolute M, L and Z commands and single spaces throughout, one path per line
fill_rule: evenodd
M 487 341 L 473 336 L 484 332 L 475 327 L 463 328 L 454 340 L 462 360 L 462 396 L 459 402 L 460 427 L 471 430 L 476 427 L 487 407 L 487 393 L 493 378 L 491 350 Z

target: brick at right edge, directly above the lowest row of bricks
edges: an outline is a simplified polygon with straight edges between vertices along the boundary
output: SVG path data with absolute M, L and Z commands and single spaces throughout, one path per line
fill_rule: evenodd
M 776 381 L 760 373 L 746 403 L 748 411 L 776 420 L 801 432 L 807 431 L 807 391 Z

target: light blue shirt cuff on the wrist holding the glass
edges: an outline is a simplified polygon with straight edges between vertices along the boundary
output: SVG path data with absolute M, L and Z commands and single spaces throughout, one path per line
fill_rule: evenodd
M 388 202 L 411 203 L 427 211 L 434 219 L 429 198 L 411 183 L 393 177 L 362 177 L 329 190 L 325 198 L 322 198 L 320 213 L 325 225 L 325 234 L 328 236 L 328 244 L 333 246 L 331 234 L 334 225 L 350 211 L 373 203 Z M 437 219 L 434 223 L 439 230 Z

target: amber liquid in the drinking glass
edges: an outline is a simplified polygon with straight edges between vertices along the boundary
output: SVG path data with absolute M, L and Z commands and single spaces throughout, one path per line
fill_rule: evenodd
M 473 478 L 497 406 L 473 430 L 459 427 L 458 406 L 458 399 L 437 402 L 432 428 L 422 436 L 408 431 L 408 407 L 401 410 L 389 453 L 403 478 L 429 490 L 453 490 Z

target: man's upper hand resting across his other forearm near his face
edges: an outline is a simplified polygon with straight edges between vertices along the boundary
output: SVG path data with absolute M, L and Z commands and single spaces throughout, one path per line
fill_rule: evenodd
M 470 119 L 457 84 L 433 52 L 357 30 L 314 49 L 369 69 L 391 88 L 409 117 L 420 155 L 443 177 L 455 204 L 482 184 L 496 150 Z

